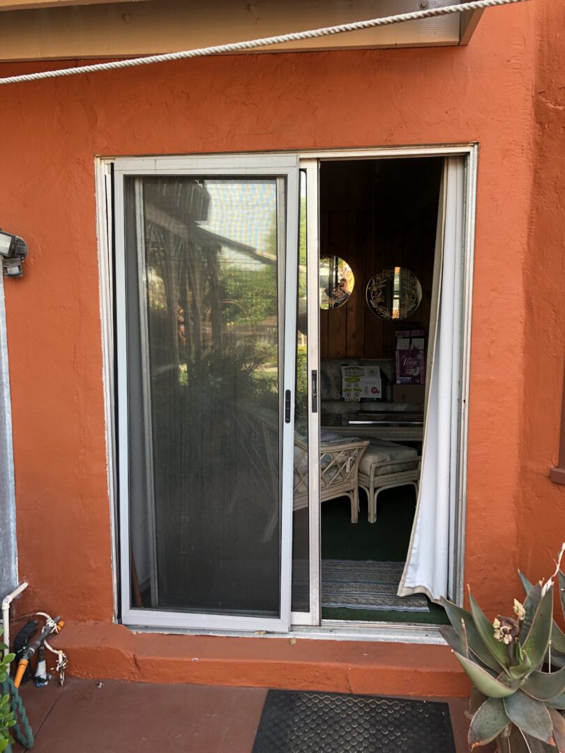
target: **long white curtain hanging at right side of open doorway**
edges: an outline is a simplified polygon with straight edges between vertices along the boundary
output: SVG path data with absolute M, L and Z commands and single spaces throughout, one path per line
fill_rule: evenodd
M 464 163 L 447 157 L 441 179 L 429 323 L 422 472 L 399 596 L 454 598 L 461 381 Z

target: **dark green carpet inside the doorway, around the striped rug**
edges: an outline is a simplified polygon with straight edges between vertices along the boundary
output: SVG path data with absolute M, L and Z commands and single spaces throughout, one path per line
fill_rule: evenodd
M 377 522 L 368 523 L 367 501 L 360 493 L 359 523 L 350 521 L 347 497 L 330 499 L 322 505 L 322 559 L 377 559 L 404 562 L 410 544 L 416 508 L 414 489 L 401 486 L 381 492 Z M 410 622 L 427 625 L 448 623 L 444 608 L 429 602 L 429 612 L 379 611 L 369 609 L 322 608 L 324 620 Z

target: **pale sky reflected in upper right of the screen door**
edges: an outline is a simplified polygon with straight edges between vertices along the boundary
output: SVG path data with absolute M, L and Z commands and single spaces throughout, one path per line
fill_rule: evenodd
M 211 198 L 210 212 L 208 221 L 200 222 L 200 227 L 259 252 L 269 252 L 267 240 L 276 218 L 276 180 L 206 180 L 206 189 Z M 237 263 L 242 258 L 232 249 L 223 251 L 226 261 L 233 258 Z

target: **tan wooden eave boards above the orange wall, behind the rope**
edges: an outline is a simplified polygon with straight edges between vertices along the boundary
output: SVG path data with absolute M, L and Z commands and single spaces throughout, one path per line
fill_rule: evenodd
M 457 0 L 429 0 L 430 8 L 445 5 Z M 418 0 L 143 0 L 3 11 L 0 59 L 166 53 L 417 10 Z M 474 28 L 463 21 L 450 14 L 253 51 L 453 45 L 460 44 L 460 27 Z

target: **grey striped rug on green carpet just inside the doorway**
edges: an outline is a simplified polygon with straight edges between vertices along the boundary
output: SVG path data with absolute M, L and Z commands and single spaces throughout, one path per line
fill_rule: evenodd
M 404 562 L 322 559 L 322 607 L 429 611 L 426 596 L 397 596 Z

